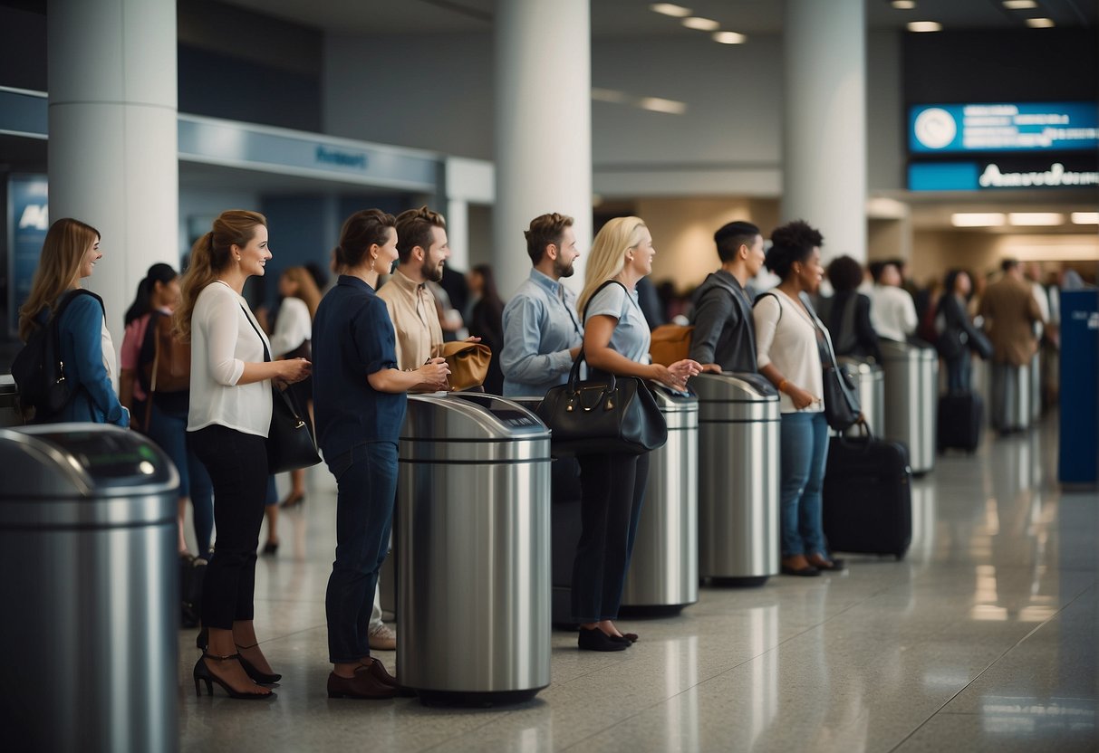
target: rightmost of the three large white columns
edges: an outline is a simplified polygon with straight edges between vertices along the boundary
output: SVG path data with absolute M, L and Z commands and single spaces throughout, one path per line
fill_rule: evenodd
M 782 221 L 866 260 L 865 0 L 786 0 Z

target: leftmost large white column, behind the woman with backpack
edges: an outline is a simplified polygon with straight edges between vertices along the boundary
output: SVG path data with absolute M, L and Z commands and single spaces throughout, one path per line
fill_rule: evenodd
M 115 348 L 137 283 L 179 266 L 174 0 L 51 0 L 49 218 L 102 234 L 85 286 L 103 297 Z

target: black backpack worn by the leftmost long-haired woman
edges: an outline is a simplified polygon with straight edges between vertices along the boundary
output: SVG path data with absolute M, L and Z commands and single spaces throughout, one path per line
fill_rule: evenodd
M 65 376 L 59 323 L 68 305 L 80 295 L 90 295 L 103 308 L 103 300 L 90 290 L 77 288 L 65 293 L 57 310 L 49 313 L 48 322 L 31 333 L 12 361 L 11 375 L 19 387 L 19 405 L 26 420 L 45 422 L 56 416 L 79 389 L 79 384 L 70 384 Z

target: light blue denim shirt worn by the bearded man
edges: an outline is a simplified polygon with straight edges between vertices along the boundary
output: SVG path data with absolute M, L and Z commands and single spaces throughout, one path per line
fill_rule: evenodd
M 536 269 L 503 308 L 503 394 L 544 395 L 568 379 L 569 349 L 584 342 L 576 293 Z

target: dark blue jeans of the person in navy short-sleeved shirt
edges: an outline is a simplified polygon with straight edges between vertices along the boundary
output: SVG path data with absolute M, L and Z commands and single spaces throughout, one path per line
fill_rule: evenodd
M 368 633 L 378 572 L 389 551 L 397 495 L 397 443 L 357 445 L 329 462 L 336 477 L 336 560 L 324 610 L 329 661 L 370 655 Z

